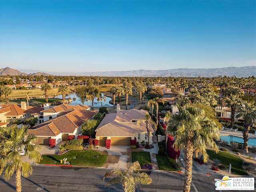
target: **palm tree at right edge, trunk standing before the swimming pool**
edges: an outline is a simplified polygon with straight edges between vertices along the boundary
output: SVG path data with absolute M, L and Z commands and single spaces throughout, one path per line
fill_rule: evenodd
M 238 115 L 236 118 L 244 118 L 244 130 L 243 139 L 244 139 L 244 150 L 248 153 L 248 140 L 250 127 L 256 122 L 256 106 L 252 103 L 244 102 L 244 105 L 241 105 L 238 108 Z

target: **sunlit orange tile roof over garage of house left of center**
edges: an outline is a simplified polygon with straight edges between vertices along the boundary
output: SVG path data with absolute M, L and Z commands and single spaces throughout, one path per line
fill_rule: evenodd
M 46 122 L 34 126 L 34 129 L 30 130 L 29 132 L 30 134 L 34 134 L 36 136 L 54 136 L 47 135 L 52 132 L 52 127 L 54 127 L 58 129 L 58 134 L 74 133 L 76 128 L 80 127 L 84 122 L 92 118 L 96 113 L 96 111 L 90 110 L 72 110 L 70 112 L 66 112 L 66 114 L 62 116 L 58 116 L 54 119 L 48 120 Z

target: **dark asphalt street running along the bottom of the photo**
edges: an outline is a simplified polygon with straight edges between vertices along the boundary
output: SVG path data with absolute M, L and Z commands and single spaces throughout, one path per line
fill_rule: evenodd
M 22 178 L 22 192 L 36 192 L 40 186 L 42 192 L 122 192 L 122 186 L 109 185 L 103 181 L 106 169 L 75 168 L 57 166 L 33 166 L 34 172 L 28 178 Z M 184 174 L 167 172 L 149 172 L 153 179 L 151 185 L 137 185 L 136 192 L 182 192 Z M 191 192 L 216 192 L 214 179 L 222 176 L 195 174 Z M 194 187 L 193 187 L 194 186 Z M 0 192 L 15 192 L 15 176 L 7 182 L 0 177 Z M 235 192 L 235 191 L 233 191 Z

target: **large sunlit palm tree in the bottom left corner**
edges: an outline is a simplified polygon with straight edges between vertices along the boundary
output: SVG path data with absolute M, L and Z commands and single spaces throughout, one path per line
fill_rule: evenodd
M 25 151 L 25 156 L 35 163 L 42 159 L 39 146 L 34 145 L 36 136 L 28 135 L 29 125 L 19 128 L 17 125 L 2 128 L 0 134 L 0 174 L 4 168 L 4 179 L 7 181 L 16 174 L 16 191 L 21 192 L 21 176 L 28 177 L 32 174 L 33 168 L 29 162 L 24 162 L 20 157 L 20 151 Z

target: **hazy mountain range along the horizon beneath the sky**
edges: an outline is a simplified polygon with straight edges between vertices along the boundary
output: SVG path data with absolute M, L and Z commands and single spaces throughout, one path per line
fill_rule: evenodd
M 224 67 L 224 68 L 178 68 L 169 70 L 130 70 L 130 71 L 108 71 L 108 72 L 45 72 L 36 70 L 15 70 L 9 67 L 1 68 L 0 75 L 58 75 L 58 76 L 108 76 L 108 77 L 217 77 L 236 76 L 249 77 L 256 75 L 256 66 Z

